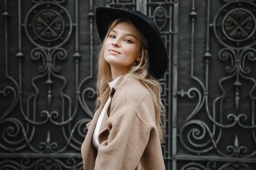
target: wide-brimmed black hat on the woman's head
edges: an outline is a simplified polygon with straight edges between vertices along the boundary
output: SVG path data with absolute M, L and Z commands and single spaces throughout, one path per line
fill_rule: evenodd
M 143 33 L 148 42 L 149 71 L 160 79 L 166 72 L 168 57 L 165 45 L 161 38 L 157 24 L 147 15 L 140 11 L 126 11 L 118 8 L 98 7 L 96 8 L 96 26 L 99 37 L 103 41 L 108 27 L 119 17 L 128 18 Z

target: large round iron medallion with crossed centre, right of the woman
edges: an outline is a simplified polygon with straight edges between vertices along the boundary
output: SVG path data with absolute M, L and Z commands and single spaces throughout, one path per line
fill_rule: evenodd
M 232 49 L 248 48 L 256 44 L 256 4 L 234 1 L 222 6 L 213 20 L 217 40 Z

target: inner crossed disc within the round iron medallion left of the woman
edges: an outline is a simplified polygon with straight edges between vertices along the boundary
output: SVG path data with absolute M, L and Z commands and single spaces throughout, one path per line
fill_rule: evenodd
M 43 10 L 35 16 L 33 29 L 38 38 L 52 42 L 63 34 L 64 20 L 56 11 Z

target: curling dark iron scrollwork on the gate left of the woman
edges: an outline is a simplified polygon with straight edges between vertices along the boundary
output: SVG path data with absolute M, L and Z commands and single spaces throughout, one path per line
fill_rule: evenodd
M 79 61 L 81 57 L 79 54 L 79 34 L 77 28 L 79 24 L 79 3 L 78 0 L 74 1 L 76 7 L 76 22 L 73 23 L 69 12 L 62 6 L 66 1 L 67 0 L 31 0 L 31 2 L 35 4 L 33 4 L 32 8 L 30 8 L 26 14 L 23 24 L 21 24 L 21 18 L 19 17 L 19 30 L 23 27 L 27 38 L 32 45 L 36 46 L 30 52 L 30 57 L 35 63 L 40 63 L 38 64 L 38 70 L 35 70 L 39 75 L 32 77 L 31 86 L 33 92 L 25 99 L 22 89 L 22 60 L 24 59 L 24 54 L 21 45 L 21 31 L 19 31 L 18 41 L 20 43 L 18 53 L 16 54 L 19 60 L 19 69 L 17 69 L 17 71 L 19 71 L 19 81 L 16 82 L 14 78 L 9 76 L 8 67 L 6 65 L 6 77 L 12 81 L 14 86 L 8 85 L 0 90 L 0 95 L 13 98 L 9 108 L 0 116 L 1 139 L 3 139 L 0 140 L 1 157 L 5 158 L 3 156 L 7 156 L 7 159 L 1 159 L 0 170 L 5 168 L 19 170 L 83 169 L 80 148 L 87 134 L 87 127 L 85 125 L 90 122 L 93 117 L 93 111 L 88 107 L 86 100 L 95 98 L 96 96 L 95 89 L 90 87 L 84 88 L 88 80 L 93 78 L 93 41 L 91 41 L 90 45 L 90 75 L 81 79 L 79 82 Z M 7 3 L 5 3 L 5 5 L 7 10 Z M 20 5 L 19 0 L 19 7 Z M 8 12 L 5 11 L 3 15 L 7 13 Z M 19 16 L 21 16 L 21 8 L 19 8 Z M 92 1 L 90 1 L 90 12 L 88 16 L 90 18 L 91 40 L 93 40 L 94 14 Z M 6 63 L 8 63 L 8 20 L 5 20 L 5 25 L 5 59 Z M 76 68 L 74 71 L 76 84 L 74 101 L 72 101 L 71 96 L 65 93 L 67 79 L 61 75 L 61 64 L 68 59 L 68 52 L 62 46 L 70 39 L 73 27 L 76 28 L 76 49 L 73 54 Z M 55 83 L 61 84 L 60 88 L 53 89 Z M 39 89 L 40 85 L 44 85 L 46 89 L 42 91 Z M 57 97 L 60 99 L 60 105 L 58 107 L 53 105 L 54 99 L 56 99 L 54 91 L 58 92 Z M 42 95 L 43 93 L 46 95 Z M 46 101 L 41 107 L 39 107 L 38 102 L 40 97 L 44 98 Z M 19 118 L 11 115 L 15 107 L 19 110 L 19 115 L 21 116 Z M 81 111 L 83 111 L 83 115 L 87 114 L 87 118 L 79 117 L 79 107 Z M 79 119 L 77 117 L 79 117 Z M 61 142 L 63 146 L 55 141 L 54 137 L 56 132 L 52 130 L 45 130 L 46 132 L 42 130 L 41 136 L 45 136 L 45 138 L 42 137 L 44 139 L 35 142 L 36 131 L 40 126 L 47 127 L 48 125 L 59 128 L 60 135 L 64 139 Z M 76 151 L 75 153 L 71 153 L 71 157 L 79 158 L 79 161 L 73 158 L 67 159 L 66 162 L 61 161 L 63 155 L 65 157 L 65 152 L 70 148 Z M 19 158 L 20 155 L 28 159 L 19 158 L 17 160 L 10 160 L 8 159 L 10 154 L 16 159 Z M 70 154 L 67 153 L 67 155 Z M 51 156 L 54 158 L 49 158 Z M 38 157 L 40 159 L 38 159 Z

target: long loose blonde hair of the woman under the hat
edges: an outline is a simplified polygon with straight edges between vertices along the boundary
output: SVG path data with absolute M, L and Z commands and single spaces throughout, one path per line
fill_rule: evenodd
M 156 119 L 156 126 L 159 133 L 159 137 L 161 142 L 164 141 L 164 135 L 165 135 L 165 126 L 166 126 L 166 109 L 161 102 L 160 93 L 162 91 L 162 87 L 158 80 L 154 78 L 150 72 L 148 71 L 149 68 L 149 59 L 148 55 L 145 53 L 144 50 L 148 50 L 148 43 L 145 39 L 143 33 L 140 31 L 137 26 L 135 26 L 133 23 L 131 23 L 130 20 L 127 18 L 118 18 L 109 26 L 108 32 L 106 34 L 105 39 L 103 40 L 101 46 L 100 46 L 100 52 L 98 55 L 98 78 L 97 78 L 97 100 L 96 100 L 96 108 L 100 105 L 100 99 L 102 97 L 102 94 L 104 93 L 105 89 L 108 88 L 108 82 L 112 81 L 112 74 L 111 74 L 111 67 L 108 62 L 104 59 L 104 44 L 105 40 L 108 38 L 110 31 L 119 23 L 121 22 L 127 22 L 130 23 L 132 27 L 137 31 L 137 34 L 139 35 L 139 38 L 141 40 L 140 45 L 140 62 L 134 62 L 129 68 L 128 68 L 128 74 L 126 74 L 124 77 L 133 77 L 134 79 L 139 80 L 140 82 L 145 85 L 146 88 L 151 93 L 151 96 L 153 98 L 154 102 L 154 110 L 155 110 L 155 119 Z

